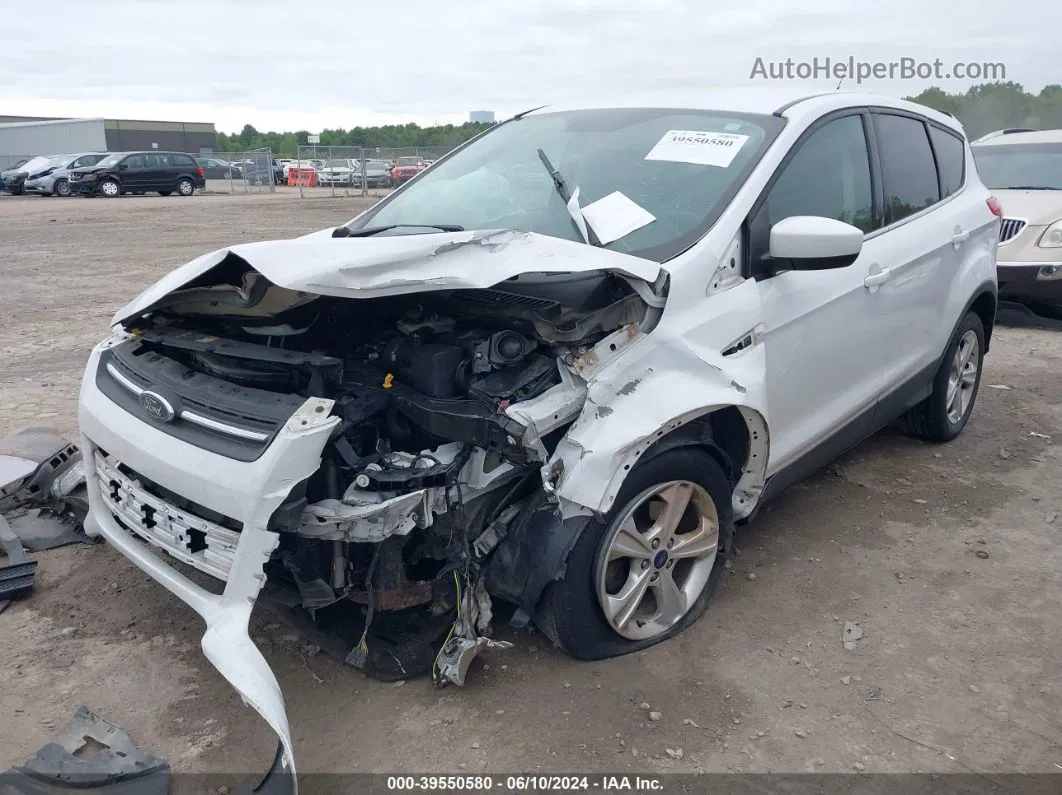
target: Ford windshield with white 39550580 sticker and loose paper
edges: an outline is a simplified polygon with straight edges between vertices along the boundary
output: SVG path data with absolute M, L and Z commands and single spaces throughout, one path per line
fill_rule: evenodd
M 633 230 L 615 240 L 614 234 L 599 234 L 605 247 L 663 261 L 710 228 L 784 124 L 772 116 L 649 108 L 514 119 L 436 162 L 350 229 L 409 225 L 381 232 L 401 235 L 417 234 L 410 227 L 424 224 L 457 225 L 582 242 L 580 222 L 565 206 L 541 150 L 566 191 L 578 189 L 594 231 L 607 225 L 615 232 L 624 224 L 621 217 L 635 219 Z M 646 211 L 652 215 L 648 223 Z

